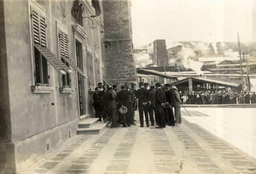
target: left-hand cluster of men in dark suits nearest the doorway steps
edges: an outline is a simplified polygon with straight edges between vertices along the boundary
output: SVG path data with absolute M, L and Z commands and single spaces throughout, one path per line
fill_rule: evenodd
M 134 123 L 134 112 L 136 109 L 135 100 L 135 85 L 127 82 L 121 86 L 121 91 L 118 91 L 117 85 L 102 85 L 98 84 L 93 93 L 93 107 L 95 109 L 95 116 L 99 118 L 98 121 L 109 121 L 111 127 L 118 127 L 121 124 L 123 127 L 130 127 L 136 125 Z M 119 112 L 120 107 L 127 109 L 125 114 Z

